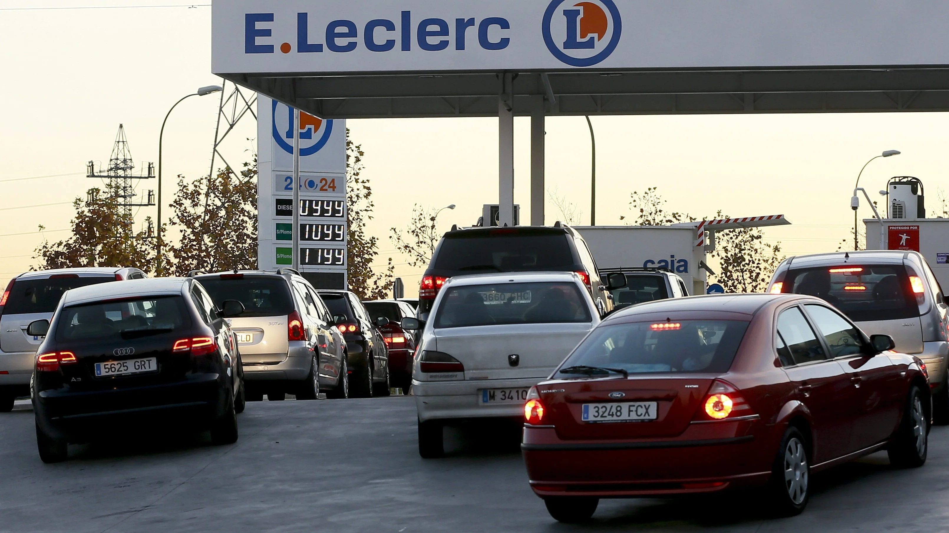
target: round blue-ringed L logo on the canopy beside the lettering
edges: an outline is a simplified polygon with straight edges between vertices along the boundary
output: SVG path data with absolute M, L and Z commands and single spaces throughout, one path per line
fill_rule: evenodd
M 553 0 L 542 28 L 553 57 L 570 66 L 592 66 L 620 44 L 623 22 L 613 0 Z

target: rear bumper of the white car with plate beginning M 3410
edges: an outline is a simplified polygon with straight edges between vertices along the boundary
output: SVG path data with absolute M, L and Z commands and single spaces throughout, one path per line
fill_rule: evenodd
M 451 418 L 523 418 L 524 403 L 481 404 L 481 389 L 524 388 L 547 378 L 478 380 L 465 382 L 412 381 L 419 420 Z

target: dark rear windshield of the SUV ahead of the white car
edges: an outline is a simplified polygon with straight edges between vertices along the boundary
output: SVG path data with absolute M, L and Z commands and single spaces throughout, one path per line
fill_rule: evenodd
M 497 234 L 445 238 L 431 268 L 470 273 L 568 271 L 576 263 L 566 233 L 493 231 Z

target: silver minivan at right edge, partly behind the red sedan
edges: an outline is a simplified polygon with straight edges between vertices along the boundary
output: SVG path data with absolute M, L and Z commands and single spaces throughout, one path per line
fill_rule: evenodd
M 774 272 L 769 290 L 823 298 L 867 335 L 893 337 L 896 351 L 926 364 L 933 418 L 949 423 L 949 306 L 918 252 L 867 250 L 787 258 Z

